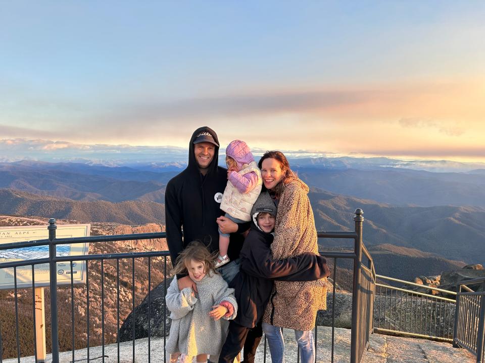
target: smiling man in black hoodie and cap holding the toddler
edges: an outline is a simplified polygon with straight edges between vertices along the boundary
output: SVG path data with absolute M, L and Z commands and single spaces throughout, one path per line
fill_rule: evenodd
M 227 170 L 217 165 L 219 140 L 214 130 L 207 126 L 197 129 L 188 148 L 187 167 L 168 182 L 165 191 L 165 224 L 172 263 L 192 240 L 199 239 L 211 252 L 216 251 L 219 248 L 218 224 L 227 233 L 245 231 L 250 226 L 249 222 L 235 224 L 225 218 L 220 209 Z M 228 250 L 231 262 L 218 269 L 227 283 L 239 271 L 238 258 L 243 242 L 243 235 L 231 234 Z M 177 275 L 177 278 L 180 290 L 192 286 L 188 276 Z

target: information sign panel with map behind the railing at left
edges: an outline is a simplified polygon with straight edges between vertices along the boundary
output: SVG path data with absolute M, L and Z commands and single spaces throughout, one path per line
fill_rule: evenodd
M 60 224 L 56 229 L 57 238 L 87 237 L 90 233 L 90 224 Z M 49 238 L 47 226 L 16 226 L 0 227 L 0 246 L 8 243 L 41 240 Z M 57 257 L 84 256 L 88 252 L 88 244 L 66 244 L 56 246 Z M 3 262 L 37 260 L 49 258 L 49 246 L 33 246 L 25 248 L 13 248 L 0 251 L 0 264 Z M 72 263 L 73 283 L 85 282 L 84 261 Z M 14 272 L 13 268 L 0 268 L 0 289 L 9 289 L 15 286 L 15 275 L 17 276 L 17 287 L 32 287 L 32 265 L 19 266 Z M 57 283 L 71 283 L 71 263 L 57 263 Z M 49 264 L 34 265 L 35 286 L 47 286 L 50 283 Z

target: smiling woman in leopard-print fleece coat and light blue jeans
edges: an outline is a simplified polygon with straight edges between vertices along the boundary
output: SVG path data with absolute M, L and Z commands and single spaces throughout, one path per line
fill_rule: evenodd
M 263 189 L 278 203 L 274 259 L 295 257 L 305 252 L 318 254 L 317 231 L 308 186 L 290 169 L 280 151 L 267 151 L 259 161 Z M 326 279 L 309 282 L 275 281 L 263 318 L 273 363 L 284 361 L 280 328 L 295 330 L 302 363 L 315 361 L 312 329 L 318 310 L 326 309 Z

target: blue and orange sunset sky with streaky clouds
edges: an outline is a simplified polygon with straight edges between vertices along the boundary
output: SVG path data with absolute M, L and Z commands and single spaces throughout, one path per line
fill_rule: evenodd
M 0 140 L 187 148 L 210 126 L 221 146 L 484 162 L 483 19 L 482 1 L 0 0 Z

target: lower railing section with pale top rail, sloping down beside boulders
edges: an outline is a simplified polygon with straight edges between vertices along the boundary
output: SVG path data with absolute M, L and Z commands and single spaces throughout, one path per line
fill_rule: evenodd
M 456 295 L 454 291 L 392 277 L 376 275 L 376 278 Z M 382 283 L 375 286 L 375 332 L 453 341 L 454 299 Z

